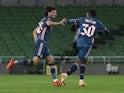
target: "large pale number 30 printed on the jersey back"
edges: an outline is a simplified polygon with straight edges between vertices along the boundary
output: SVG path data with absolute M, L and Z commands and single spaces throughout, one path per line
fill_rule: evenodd
M 96 29 L 94 25 L 89 26 L 89 24 L 82 24 L 82 26 L 84 27 L 83 28 L 84 32 L 81 32 L 83 36 L 87 35 L 88 37 L 91 37 L 94 35 L 95 29 Z

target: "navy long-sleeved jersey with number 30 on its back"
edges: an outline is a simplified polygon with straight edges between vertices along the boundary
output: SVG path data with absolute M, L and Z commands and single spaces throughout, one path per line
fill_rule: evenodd
M 108 31 L 102 22 L 93 17 L 70 19 L 68 22 L 79 25 L 77 47 L 91 47 L 97 32 Z

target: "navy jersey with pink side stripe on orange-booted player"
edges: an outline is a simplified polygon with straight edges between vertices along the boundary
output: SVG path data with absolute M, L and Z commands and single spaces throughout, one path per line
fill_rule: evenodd
M 47 44 L 51 27 L 46 25 L 46 21 L 51 21 L 50 17 L 44 17 L 37 26 L 37 41 Z M 36 42 L 37 42 L 36 41 Z

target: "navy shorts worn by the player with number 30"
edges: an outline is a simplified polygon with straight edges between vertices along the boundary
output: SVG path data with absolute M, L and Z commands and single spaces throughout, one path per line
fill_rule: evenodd
M 81 60 L 81 61 L 85 61 L 85 59 L 88 57 L 89 55 L 89 52 L 91 50 L 92 47 L 78 47 L 78 58 Z

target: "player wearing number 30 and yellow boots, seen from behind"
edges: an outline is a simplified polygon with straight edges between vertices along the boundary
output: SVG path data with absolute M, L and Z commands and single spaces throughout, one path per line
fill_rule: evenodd
M 91 9 L 87 12 L 86 17 L 79 19 L 70 19 L 68 20 L 69 24 L 79 25 L 79 35 L 77 38 L 77 60 L 75 64 L 66 72 L 61 74 L 61 83 L 62 86 L 65 85 L 65 79 L 67 76 L 71 75 L 77 69 L 80 70 L 80 80 L 79 86 L 86 86 L 84 82 L 84 73 L 87 64 L 88 54 L 92 49 L 94 43 L 94 37 L 97 32 L 103 32 L 109 34 L 107 28 L 102 24 L 101 21 L 96 18 L 96 11 Z

